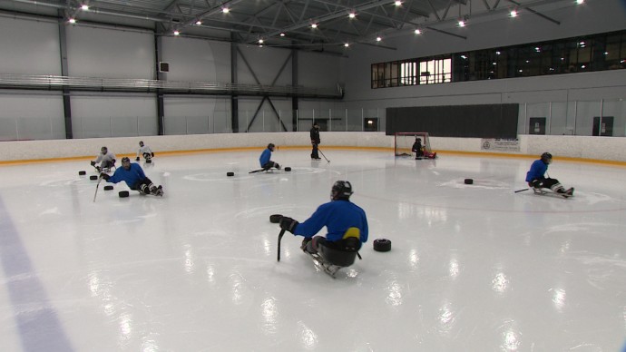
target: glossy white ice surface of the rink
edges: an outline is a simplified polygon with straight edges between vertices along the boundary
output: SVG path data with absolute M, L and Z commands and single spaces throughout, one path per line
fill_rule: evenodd
M 623 347 L 626 168 L 555 155 L 564 200 L 514 193 L 533 159 L 322 151 L 256 174 L 261 150 L 157 151 L 162 198 L 103 182 L 93 201 L 89 161 L 0 166 L 0 350 Z M 367 212 L 363 259 L 332 279 L 287 233 L 278 262 L 269 215 L 306 220 L 337 180 Z

